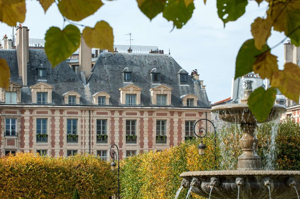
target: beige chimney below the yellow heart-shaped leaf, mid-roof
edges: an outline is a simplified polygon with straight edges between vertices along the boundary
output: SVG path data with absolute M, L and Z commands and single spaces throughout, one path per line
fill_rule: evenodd
M 91 75 L 92 69 L 92 50 L 86 45 L 81 34 L 81 42 L 79 46 L 79 70 L 85 72 L 85 79 Z

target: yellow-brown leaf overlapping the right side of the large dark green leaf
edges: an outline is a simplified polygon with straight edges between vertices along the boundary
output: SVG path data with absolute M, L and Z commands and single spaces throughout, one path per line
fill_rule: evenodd
M 272 74 L 278 71 L 277 56 L 272 55 L 270 51 L 257 56 L 253 65 L 253 71 L 258 73 L 262 79 L 271 79 Z

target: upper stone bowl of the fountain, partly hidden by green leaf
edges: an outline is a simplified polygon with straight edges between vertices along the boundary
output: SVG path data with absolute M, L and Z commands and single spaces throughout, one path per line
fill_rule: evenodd
M 268 118 L 263 122 L 257 122 L 247 103 L 225 104 L 211 108 L 211 112 L 218 114 L 221 120 L 236 124 L 269 122 L 280 118 L 284 111 L 286 111 L 285 106 L 275 104 L 273 105 Z

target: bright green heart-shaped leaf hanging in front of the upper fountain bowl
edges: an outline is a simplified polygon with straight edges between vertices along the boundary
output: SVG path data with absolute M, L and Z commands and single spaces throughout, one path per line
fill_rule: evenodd
M 247 104 L 257 121 L 263 122 L 268 118 L 274 105 L 276 92 L 276 89 L 272 87 L 266 91 L 264 88 L 259 87 L 251 93 Z

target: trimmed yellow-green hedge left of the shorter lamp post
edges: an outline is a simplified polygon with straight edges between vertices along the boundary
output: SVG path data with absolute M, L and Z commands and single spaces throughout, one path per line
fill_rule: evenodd
M 108 162 L 92 155 L 52 158 L 17 153 L 0 159 L 0 198 L 107 199 L 116 193 L 116 175 Z

